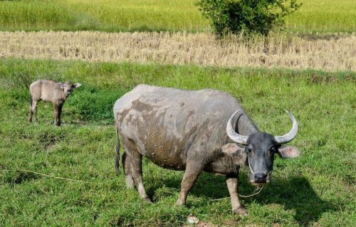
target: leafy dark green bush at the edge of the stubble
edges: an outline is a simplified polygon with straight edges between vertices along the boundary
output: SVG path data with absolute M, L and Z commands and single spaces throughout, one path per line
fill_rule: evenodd
M 197 6 L 211 20 L 218 36 L 260 33 L 264 36 L 284 24 L 284 17 L 301 4 L 296 0 L 199 0 Z

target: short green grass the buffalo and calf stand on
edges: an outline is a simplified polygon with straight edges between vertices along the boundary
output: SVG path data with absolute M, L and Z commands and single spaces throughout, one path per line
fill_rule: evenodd
M 31 81 L 80 82 L 54 127 L 51 105 L 40 125 L 26 122 Z M 314 70 L 217 69 L 194 65 L 0 60 L 0 169 L 27 169 L 81 179 L 63 181 L 0 171 L 0 226 L 182 226 L 193 213 L 225 226 L 355 226 L 356 74 Z M 114 171 L 112 104 L 138 83 L 226 90 L 241 100 L 261 130 L 282 134 L 291 110 L 300 125 L 299 159 L 276 159 L 272 183 L 243 199 L 249 216 L 231 214 L 224 177 L 202 174 L 187 206 L 175 207 L 182 171 L 144 159 L 144 184 L 154 204 L 125 188 Z M 247 170 L 241 194 L 251 194 Z

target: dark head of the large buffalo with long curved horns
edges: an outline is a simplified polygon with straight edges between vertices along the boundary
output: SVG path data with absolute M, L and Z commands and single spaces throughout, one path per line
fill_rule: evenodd
M 234 116 L 238 111 L 231 115 L 226 125 L 226 133 L 236 144 L 226 144 L 223 152 L 232 155 L 246 155 L 248 167 L 250 169 L 251 184 L 266 184 L 271 181 L 273 170 L 274 154 L 278 154 L 283 159 L 298 157 L 298 148 L 292 146 L 282 146 L 295 138 L 298 132 L 298 124 L 293 115 L 288 112 L 293 127 L 287 134 L 281 137 L 274 137 L 266 132 L 256 132 L 249 136 L 236 133 L 232 127 Z M 239 144 L 239 145 L 238 145 Z

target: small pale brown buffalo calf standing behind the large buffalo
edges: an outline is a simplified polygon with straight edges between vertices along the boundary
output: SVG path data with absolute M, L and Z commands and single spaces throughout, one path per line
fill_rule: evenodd
M 30 111 L 28 113 L 28 122 L 32 122 L 32 114 L 37 120 L 38 101 L 53 103 L 54 125 L 61 126 L 61 112 L 64 101 L 72 93 L 74 88 L 80 87 L 80 83 L 71 84 L 69 81 L 60 83 L 54 80 L 37 80 L 30 85 Z

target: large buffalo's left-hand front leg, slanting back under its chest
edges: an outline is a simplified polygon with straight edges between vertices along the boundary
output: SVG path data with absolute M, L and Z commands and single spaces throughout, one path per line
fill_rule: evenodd
M 199 174 L 203 167 L 200 164 L 191 162 L 187 163 L 187 167 L 182 179 L 179 198 L 177 200 L 176 205 L 182 206 L 187 201 L 187 194 L 192 189 L 193 184 L 197 181 Z

